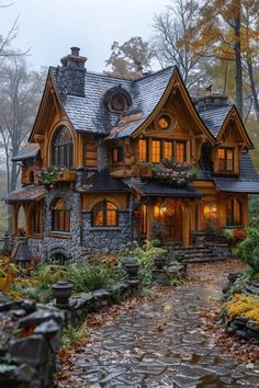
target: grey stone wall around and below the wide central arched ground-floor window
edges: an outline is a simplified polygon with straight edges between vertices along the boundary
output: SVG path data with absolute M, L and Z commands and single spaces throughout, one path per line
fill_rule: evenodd
M 117 227 L 92 227 L 91 212 L 82 213 L 82 243 L 88 253 L 119 252 L 132 240 L 128 210 L 119 210 Z

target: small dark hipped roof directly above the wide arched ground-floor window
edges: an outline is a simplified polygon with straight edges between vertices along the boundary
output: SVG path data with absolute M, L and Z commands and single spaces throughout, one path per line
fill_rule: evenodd
M 124 193 L 130 189 L 122 180 L 110 175 L 109 171 L 97 172 L 77 189 L 80 193 Z

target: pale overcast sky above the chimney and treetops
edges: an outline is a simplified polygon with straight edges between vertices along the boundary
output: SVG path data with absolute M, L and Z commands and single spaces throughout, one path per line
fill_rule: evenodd
M 0 34 L 8 33 L 15 18 L 19 36 L 14 46 L 30 49 L 29 62 L 36 69 L 56 66 L 70 52 L 81 48 L 87 68 L 102 71 L 113 41 L 132 36 L 148 38 L 155 13 L 173 0 L 0 0 Z

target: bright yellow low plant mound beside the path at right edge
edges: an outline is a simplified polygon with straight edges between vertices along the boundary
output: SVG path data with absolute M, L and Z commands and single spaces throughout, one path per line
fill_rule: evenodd
M 259 322 L 259 296 L 238 294 L 225 306 L 227 308 L 227 316 L 230 319 L 238 316 L 245 316 Z

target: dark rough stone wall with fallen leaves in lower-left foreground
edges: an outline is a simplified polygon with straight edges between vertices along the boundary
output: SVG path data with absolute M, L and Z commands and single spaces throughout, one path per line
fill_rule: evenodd
M 64 312 L 53 307 L 0 304 L 0 388 L 53 386 L 63 323 Z

